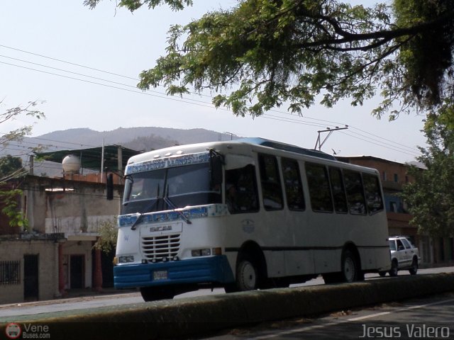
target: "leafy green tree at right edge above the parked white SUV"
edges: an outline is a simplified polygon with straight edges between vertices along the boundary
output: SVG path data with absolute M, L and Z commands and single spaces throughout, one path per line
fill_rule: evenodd
M 412 167 L 415 181 L 402 194 L 413 215 L 411 224 L 433 236 L 454 236 L 454 105 L 446 102 L 424 125 L 428 147 L 421 149 L 426 170 Z

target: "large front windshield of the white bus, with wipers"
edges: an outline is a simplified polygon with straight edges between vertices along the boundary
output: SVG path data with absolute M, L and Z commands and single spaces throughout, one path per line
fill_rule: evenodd
M 170 205 L 164 198 L 168 198 Z M 209 163 L 178 166 L 126 176 L 121 214 L 221 203 L 221 200 L 220 186 L 210 185 Z

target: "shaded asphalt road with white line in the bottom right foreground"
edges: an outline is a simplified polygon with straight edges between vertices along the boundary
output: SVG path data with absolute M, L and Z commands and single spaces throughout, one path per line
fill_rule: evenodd
M 233 329 L 204 340 L 454 339 L 454 294 Z

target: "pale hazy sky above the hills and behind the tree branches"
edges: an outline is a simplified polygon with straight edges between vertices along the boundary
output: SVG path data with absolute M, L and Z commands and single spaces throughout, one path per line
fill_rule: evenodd
M 312 148 L 317 130 L 349 125 L 346 131 L 334 132 L 322 150 L 408 162 L 419 154 L 416 146 L 424 145 L 421 116 L 402 115 L 392 123 L 377 120 L 370 115 L 377 101 L 360 108 L 348 103 L 331 109 L 314 106 L 303 118 L 279 108 L 253 120 L 216 110 L 209 96 L 180 99 L 165 96 L 162 88 L 145 93 L 135 89 L 138 74 L 165 55 L 170 25 L 187 23 L 220 6 L 229 8 L 236 1 L 194 0 L 192 8 L 177 13 L 160 6 L 133 14 L 116 9 L 115 1 L 101 1 L 93 11 L 82 2 L 0 2 L 0 112 L 45 101 L 38 108 L 46 119 L 34 126 L 33 136 L 70 128 L 205 128 Z M 2 124 L 0 132 L 30 123 L 20 119 Z

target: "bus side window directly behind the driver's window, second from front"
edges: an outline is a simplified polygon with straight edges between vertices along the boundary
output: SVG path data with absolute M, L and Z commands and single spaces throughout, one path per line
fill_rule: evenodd
M 280 210 L 284 207 L 284 200 L 277 159 L 269 154 L 259 154 L 258 160 L 263 205 L 266 210 Z

